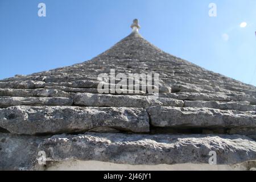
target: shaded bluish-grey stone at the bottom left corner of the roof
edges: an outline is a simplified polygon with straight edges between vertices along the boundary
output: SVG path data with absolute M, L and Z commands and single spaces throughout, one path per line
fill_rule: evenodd
M 0 133 L 0 170 L 43 170 L 36 157 L 44 138 Z

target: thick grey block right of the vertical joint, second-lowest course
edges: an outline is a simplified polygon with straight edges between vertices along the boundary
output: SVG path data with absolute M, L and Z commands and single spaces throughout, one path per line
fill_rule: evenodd
M 152 126 L 158 127 L 256 127 L 255 111 L 192 107 L 148 107 Z

